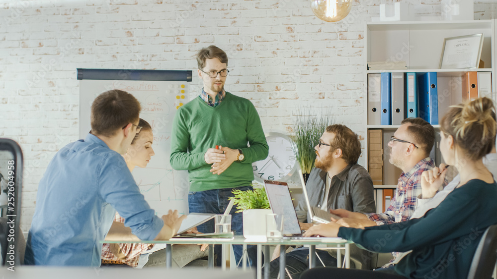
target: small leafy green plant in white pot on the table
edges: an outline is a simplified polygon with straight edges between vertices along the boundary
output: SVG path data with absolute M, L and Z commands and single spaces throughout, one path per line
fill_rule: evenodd
M 250 239 L 264 240 L 266 237 L 266 214 L 271 214 L 266 190 L 254 188 L 253 191 L 233 190 L 234 205 L 237 206 L 237 212 L 243 212 L 244 236 Z M 257 225 L 255 225 L 257 224 Z

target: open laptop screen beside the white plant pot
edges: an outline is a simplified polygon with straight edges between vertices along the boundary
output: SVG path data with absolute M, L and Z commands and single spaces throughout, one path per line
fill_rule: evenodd
M 283 215 L 283 233 L 300 235 L 302 231 L 287 183 L 265 180 L 264 187 L 273 213 Z

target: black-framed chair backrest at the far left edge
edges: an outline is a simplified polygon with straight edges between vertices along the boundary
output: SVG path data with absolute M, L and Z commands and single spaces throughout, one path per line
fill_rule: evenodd
M 22 189 L 22 151 L 19 145 L 11 140 L 0 138 L 0 168 L 7 182 L 8 203 L 2 209 L 6 221 L 0 224 L 1 265 L 7 268 L 20 265 L 23 260 L 25 241 L 21 223 L 21 189 Z M 11 251 L 13 250 L 13 251 Z

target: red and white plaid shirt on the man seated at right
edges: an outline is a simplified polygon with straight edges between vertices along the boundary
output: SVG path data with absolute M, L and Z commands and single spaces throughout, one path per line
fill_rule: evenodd
M 417 196 L 421 194 L 421 174 L 425 170 L 435 167 L 435 163 L 429 157 L 419 161 L 409 172 L 403 172 L 399 177 L 397 189 L 390 206 L 384 213 L 369 213 L 369 220 L 378 225 L 391 224 L 408 221 L 416 210 Z M 444 186 L 447 180 L 444 181 Z M 400 252 L 392 252 L 394 259 Z M 393 261 L 393 260 L 392 260 Z M 391 262 L 392 262 L 391 261 Z

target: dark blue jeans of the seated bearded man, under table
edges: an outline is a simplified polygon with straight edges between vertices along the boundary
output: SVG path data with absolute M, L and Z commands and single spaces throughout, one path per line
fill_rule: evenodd
M 331 257 L 328 254 L 328 251 L 324 250 L 316 250 L 319 257 L 325 263 L 327 267 L 336 267 L 336 259 Z M 321 262 L 316 257 L 317 265 L 320 266 Z M 293 279 L 299 279 L 301 274 L 309 269 L 309 248 L 297 248 L 290 253 L 286 254 L 285 258 L 285 266 L 288 269 L 288 272 L 292 276 Z M 265 268 L 265 267 L 264 267 Z M 269 272 L 269 278 L 276 279 L 278 278 L 279 273 L 279 258 L 273 260 L 271 262 L 271 269 Z M 264 270 L 262 270 L 262 274 L 264 274 Z M 280 278 L 283 278 L 280 276 Z M 288 279 L 288 275 L 285 273 L 285 278 Z

